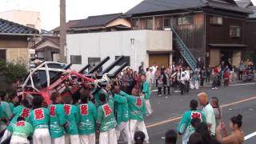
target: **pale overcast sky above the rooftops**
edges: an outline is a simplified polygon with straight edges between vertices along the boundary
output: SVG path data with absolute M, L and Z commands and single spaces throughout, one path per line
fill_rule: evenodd
M 256 5 L 256 0 L 251 0 Z M 66 0 L 66 21 L 90 15 L 125 13 L 142 0 Z M 59 0 L 0 0 L 0 11 L 30 10 L 41 14 L 42 28 L 59 26 Z

